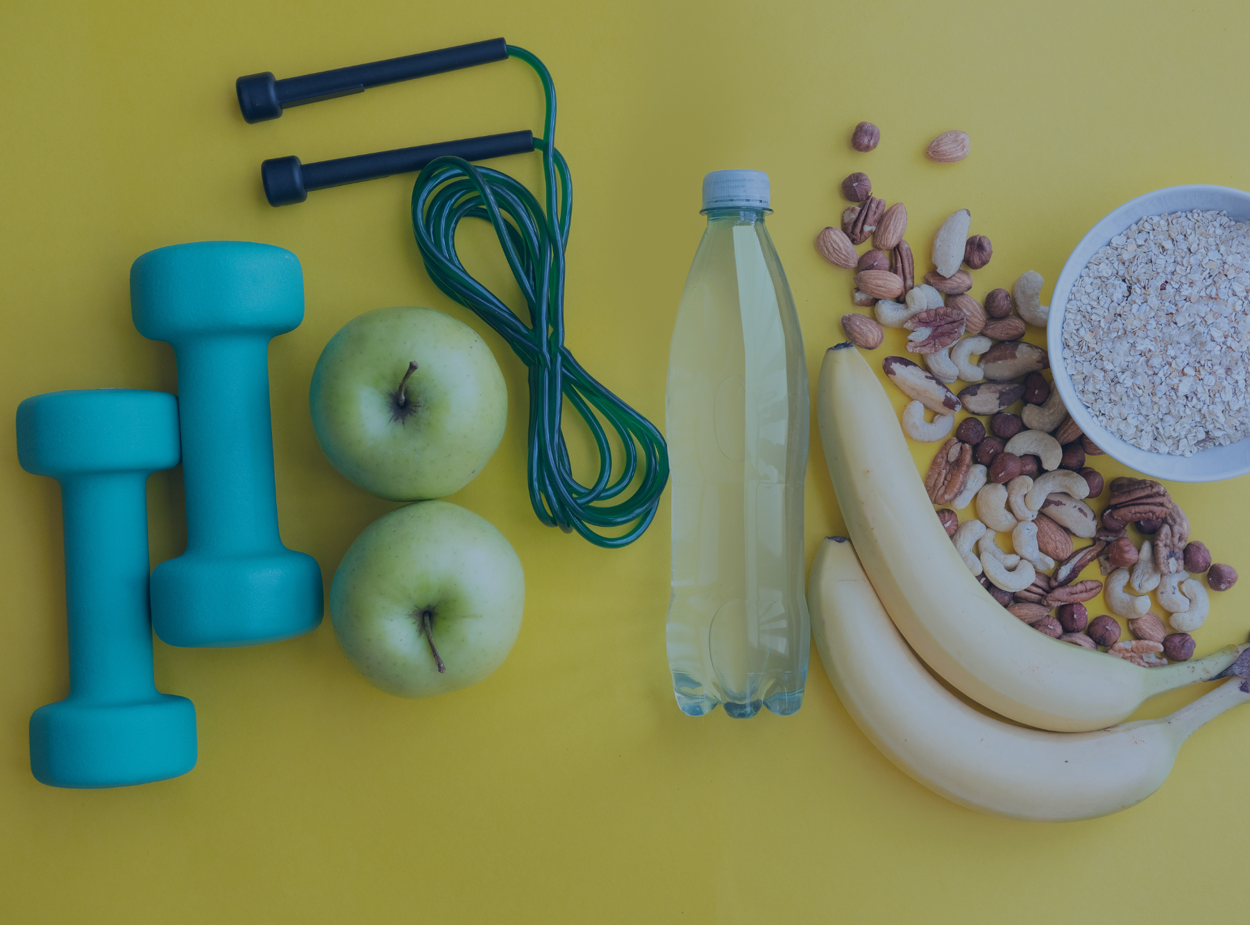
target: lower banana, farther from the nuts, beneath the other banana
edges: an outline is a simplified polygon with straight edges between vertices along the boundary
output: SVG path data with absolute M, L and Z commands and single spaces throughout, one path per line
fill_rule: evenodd
M 1096 732 L 985 716 L 925 670 L 842 538 L 816 552 L 808 606 L 820 660 L 864 735 L 935 794 L 988 815 L 1058 822 L 1128 809 L 1159 789 L 1194 730 L 1250 701 L 1250 681 L 1234 678 L 1170 716 Z

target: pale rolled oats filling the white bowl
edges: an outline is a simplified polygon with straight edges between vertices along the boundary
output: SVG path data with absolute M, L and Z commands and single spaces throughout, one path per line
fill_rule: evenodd
M 1064 311 L 1064 362 L 1094 419 L 1154 452 L 1250 435 L 1250 228 L 1150 215 L 1095 254 Z

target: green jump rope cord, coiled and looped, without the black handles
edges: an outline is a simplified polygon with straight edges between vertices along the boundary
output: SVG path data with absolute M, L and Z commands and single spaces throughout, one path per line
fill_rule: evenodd
M 564 345 L 564 249 L 572 215 L 572 180 L 555 148 L 555 85 L 542 62 L 525 49 L 509 45 L 508 54 L 538 72 L 546 96 L 544 138 L 534 139 L 534 146 L 542 151 L 546 211 L 508 174 L 475 168 L 460 158 L 439 158 L 416 178 L 412 231 L 435 285 L 495 329 L 529 368 L 528 470 L 530 502 L 539 520 L 565 532 L 576 530 L 598 546 L 626 546 L 655 516 L 669 480 L 668 448 L 655 425 L 586 372 Z M 456 226 L 464 218 L 482 219 L 494 226 L 525 296 L 531 324 L 518 318 L 460 262 Z M 560 430 L 561 396 L 569 399 L 595 438 L 599 478 L 594 485 L 579 482 L 569 465 Z M 625 448 L 624 468 L 615 481 L 609 481 L 612 451 L 596 412 Z M 620 496 L 636 475 L 639 484 L 632 494 L 616 504 L 602 504 Z M 626 524 L 632 526 L 619 536 L 595 530 Z

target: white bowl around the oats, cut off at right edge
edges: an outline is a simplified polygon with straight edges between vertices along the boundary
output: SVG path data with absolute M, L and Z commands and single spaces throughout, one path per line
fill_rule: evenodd
M 1199 450 L 1192 456 L 1172 456 L 1142 450 L 1112 435 L 1094 420 L 1090 410 L 1076 396 L 1071 376 L 1068 375 L 1064 365 L 1064 309 L 1072 285 L 1085 265 L 1099 249 L 1129 225 L 1146 215 L 1195 209 L 1226 211 L 1230 219 L 1246 221 L 1250 220 L 1250 192 L 1228 186 L 1169 186 L 1125 202 L 1091 228 L 1068 258 L 1062 272 L 1059 274 L 1059 281 L 1055 282 L 1055 292 L 1050 299 L 1050 318 L 1046 322 L 1046 349 L 1050 352 L 1051 374 L 1072 420 L 1109 456 L 1139 472 L 1168 481 L 1219 481 L 1250 472 L 1250 439 L 1228 446 Z

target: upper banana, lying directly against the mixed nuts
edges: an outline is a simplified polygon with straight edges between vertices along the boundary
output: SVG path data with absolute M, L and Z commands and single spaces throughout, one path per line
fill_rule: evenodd
M 1056 642 L 1008 614 L 931 515 L 894 408 L 850 344 L 825 354 L 816 418 L 834 494 L 881 602 L 920 658 L 979 704 L 1039 729 L 1105 729 L 1236 659 L 1228 646 L 1144 669 Z

